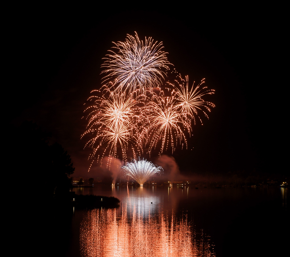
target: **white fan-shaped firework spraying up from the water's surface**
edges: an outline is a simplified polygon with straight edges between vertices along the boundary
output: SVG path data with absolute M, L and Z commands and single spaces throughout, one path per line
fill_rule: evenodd
M 153 163 L 145 160 L 132 160 L 131 163 L 126 163 L 125 166 L 121 167 L 125 176 L 130 176 L 133 178 L 140 186 L 144 184 L 144 182 L 154 174 L 163 173 L 162 167 L 157 167 Z

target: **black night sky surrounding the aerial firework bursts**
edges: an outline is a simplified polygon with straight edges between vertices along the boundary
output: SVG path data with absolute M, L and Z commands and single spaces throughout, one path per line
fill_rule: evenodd
M 216 105 L 209 120 L 193 127 L 193 150 L 173 154 L 182 172 L 282 169 L 283 18 L 273 19 L 258 8 L 231 13 L 114 8 L 53 8 L 19 19 L 11 41 L 17 60 L 8 88 L 16 103 L 8 112 L 12 124 L 32 120 L 51 132 L 51 142 L 71 155 L 74 176 L 88 176 L 90 150 L 80 139 L 86 127 L 84 103 L 91 90 L 100 88 L 100 65 L 112 41 L 124 41 L 136 31 L 140 39 L 162 41 L 168 61 L 189 75 L 190 83 L 206 78 L 216 92 L 208 99 Z

